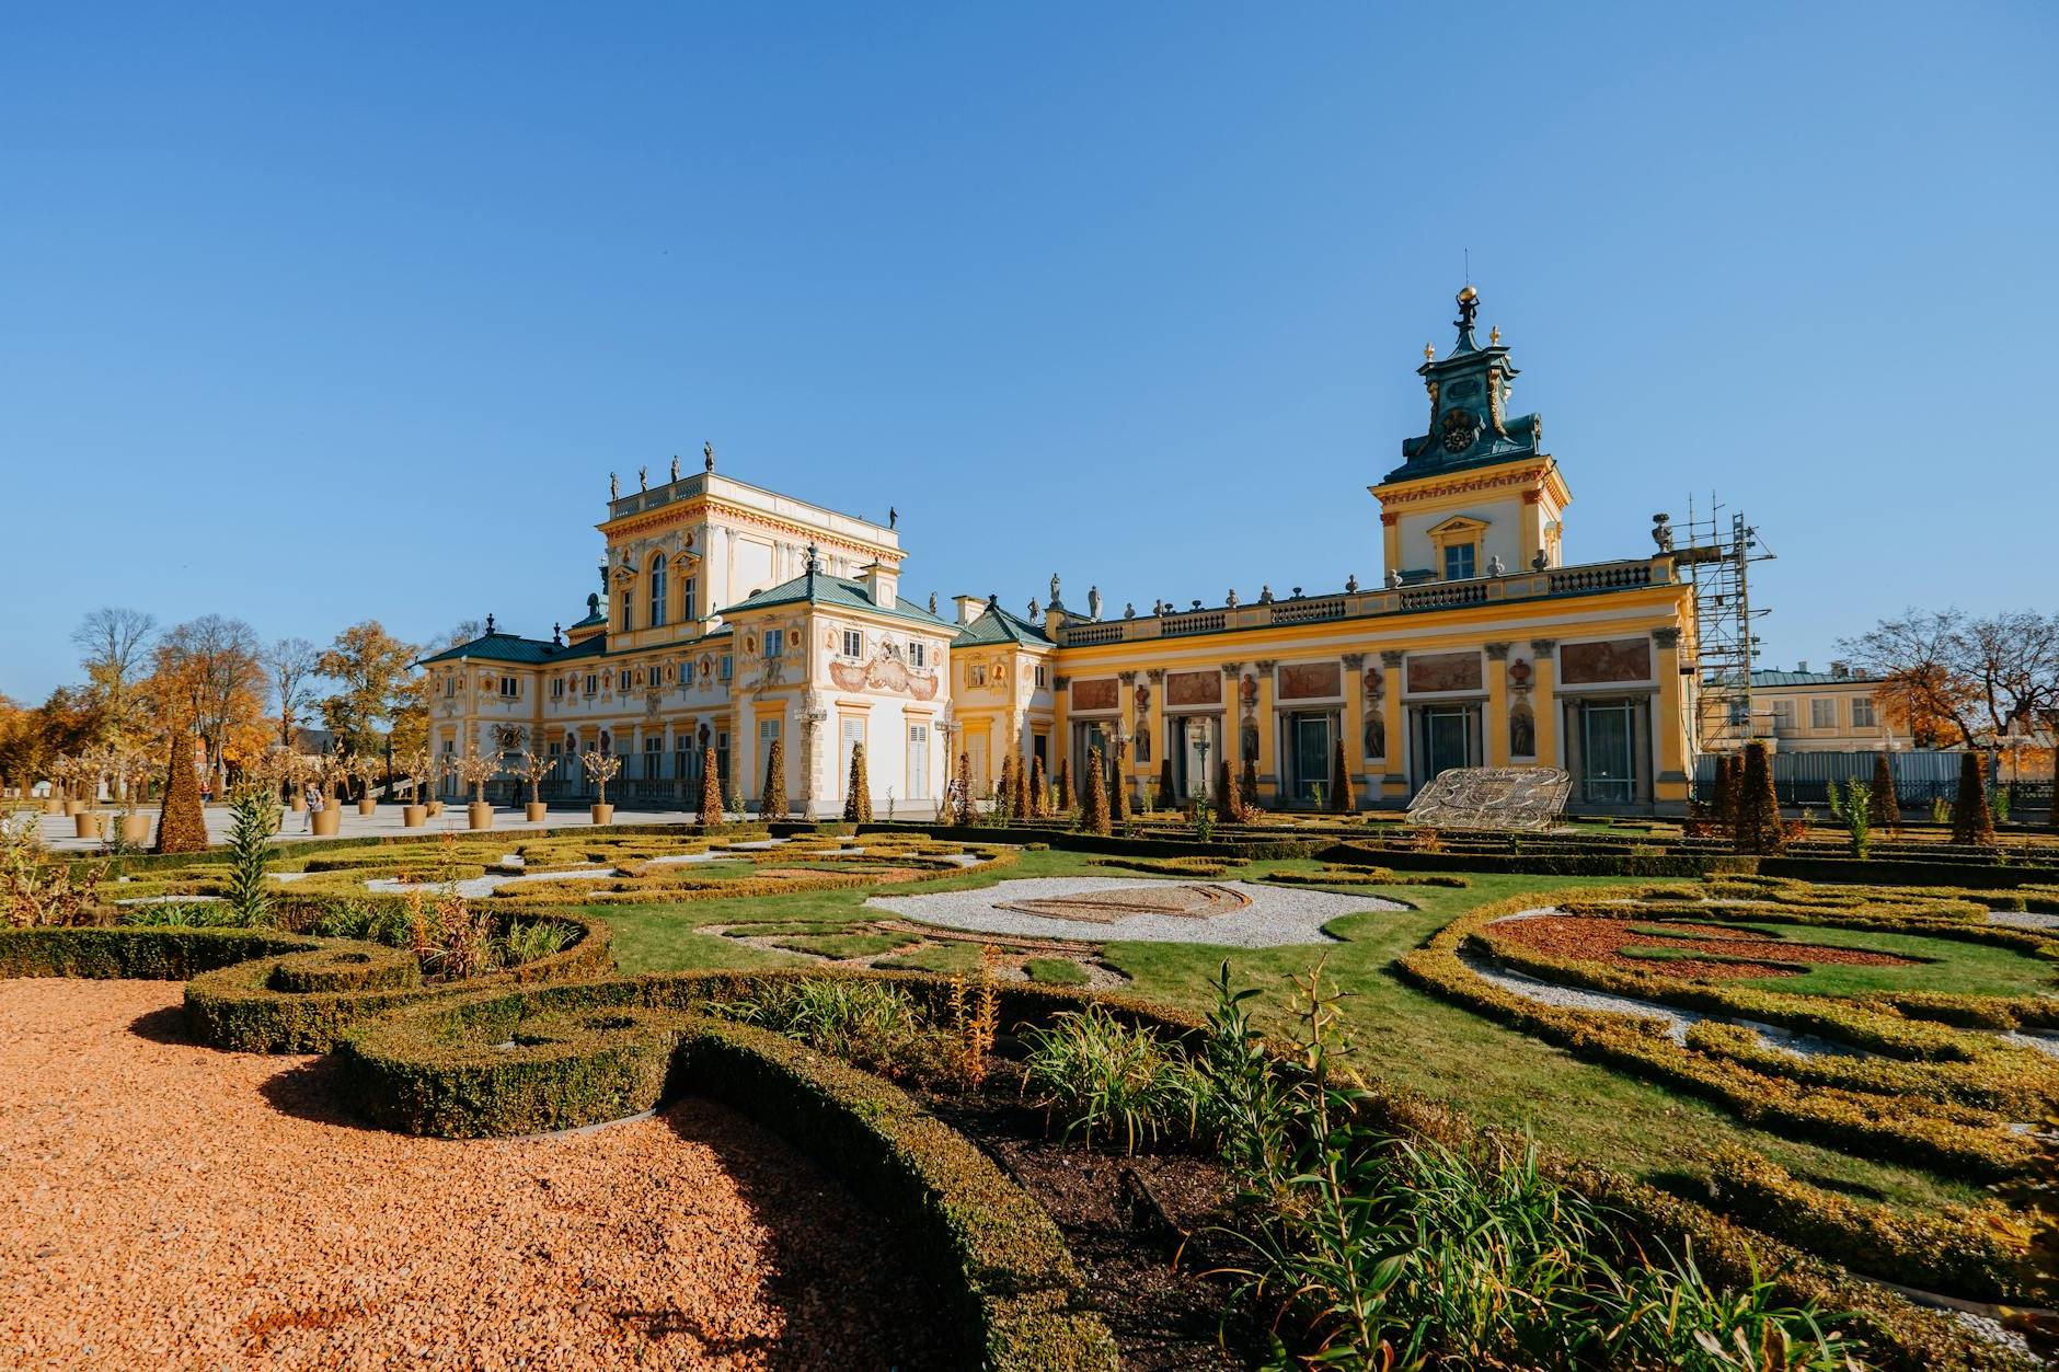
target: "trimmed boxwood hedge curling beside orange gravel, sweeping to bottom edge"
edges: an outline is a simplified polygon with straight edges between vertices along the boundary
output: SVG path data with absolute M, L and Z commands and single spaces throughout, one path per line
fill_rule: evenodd
M 906 1092 L 780 1034 L 642 999 L 733 979 L 618 979 L 480 993 L 364 1028 L 342 1044 L 369 1119 L 451 1137 L 568 1129 L 679 1092 L 791 1139 L 898 1226 L 953 1302 L 962 1353 L 984 1368 L 1114 1372 L 1056 1224 L 964 1135 Z

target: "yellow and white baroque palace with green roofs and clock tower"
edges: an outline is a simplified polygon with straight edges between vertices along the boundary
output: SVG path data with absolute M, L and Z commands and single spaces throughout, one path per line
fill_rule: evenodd
M 618 494 L 587 614 L 550 639 L 488 632 L 428 657 L 439 752 L 556 758 L 546 797 L 591 791 L 577 754 L 624 760 L 612 797 L 694 810 L 702 768 L 754 808 L 784 740 L 797 814 L 842 812 L 865 746 L 875 812 L 929 818 L 953 760 L 974 791 L 1003 758 L 1120 756 L 1132 795 L 1172 760 L 1180 799 L 1227 762 L 1264 805 L 1314 808 L 1336 748 L 1359 808 L 1398 808 L 1452 766 L 1561 766 L 1573 805 L 1680 812 L 1695 773 L 1692 585 L 1670 538 L 1649 556 L 1567 564 L 1571 488 L 1478 297 L 1417 369 L 1427 431 L 1369 490 L 1384 577 L 1340 589 L 1106 614 L 1062 599 L 1013 614 L 900 595 L 885 525 L 714 470 Z M 1283 583 L 1285 585 L 1285 583 Z M 1118 748 L 1120 744 L 1120 748 Z

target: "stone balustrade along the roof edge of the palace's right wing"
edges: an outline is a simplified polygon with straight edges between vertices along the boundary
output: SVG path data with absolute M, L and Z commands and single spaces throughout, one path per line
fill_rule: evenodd
M 1590 562 L 1585 567 L 1559 567 L 1540 573 L 1526 571 L 1507 577 L 1431 581 L 1425 585 L 1347 591 L 1342 595 L 1291 595 L 1287 599 L 1262 599 L 1250 606 L 1178 610 L 1122 620 L 1060 624 L 1058 643 L 1065 647 L 1091 647 L 1097 643 L 1180 639 L 1192 634 L 1229 632 L 1237 628 L 1264 628 L 1270 624 L 1320 624 L 1326 620 L 1410 614 L 1417 610 L 1491 606 L 1509 599 L 1596 595 L 1604 591 L 1631 591 L 1647 585 L 1672 585 L 1674 581 L 1676 575 L 1672 560 L 1666 556 L 1633 558 L 1625 562 Z

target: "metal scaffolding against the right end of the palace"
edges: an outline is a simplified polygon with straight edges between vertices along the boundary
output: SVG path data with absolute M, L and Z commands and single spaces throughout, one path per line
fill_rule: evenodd
M 1752 622 L 1767 610 L 1752 608 L 1750 564 L 1771 560 L 1773 552 L 1744 511 L 1728 509 L 1715 492 L 1705 509 L 1688 496 L 1680 527 L 1686 538 L 1674 550 L 1674 564 L 1695 581 L 1695 748 L 1738 752 L 1763 733 L 1752 715 L 1752 663 L 1758 659 Z

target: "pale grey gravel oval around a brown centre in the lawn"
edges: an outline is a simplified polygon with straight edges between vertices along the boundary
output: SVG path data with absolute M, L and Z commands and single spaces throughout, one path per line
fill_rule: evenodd
M 1005 933 L 1038 939 L 1089 939 L 1139 944 L 1213 944 L 1223 948 L 1281 948 L 1285 944 L 1328 944 L 1326 923 L 1342 915 L 1402 911 L 1408 906 L 1377 896 L 1336 896 L 1322 890 L 1258 886 L 1254 882 L 1207 882 L 1250 900 L 1242 911 L 1196 919 L 1190 915 L 1124 915 L 1108 923 L 1054 919 L 1025 911 L 997 908 L 1003 900 L 1048 900 L 1104 890 L 1192 886 L 1153 878 L 1019 878 L 978 890 L 945 890 L 922 896 L 873 896 L 865 904 L 902 919 L 947 929 Z

